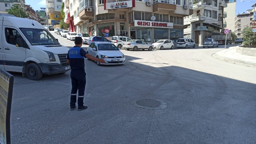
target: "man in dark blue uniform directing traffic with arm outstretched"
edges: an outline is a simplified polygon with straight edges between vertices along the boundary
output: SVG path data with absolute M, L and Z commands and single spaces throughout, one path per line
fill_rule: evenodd
M 82 46 L 82 38 L 75 38 L 75 45 L 73 48 L 68 50 L 67 63 L 70 64 L 71 72 L 71 96 L 70 96 L 70 110 L 76 108 L 76 93 L 78 90 L 78 111 L 85 110 L 88 108 L 84 106 L 84 90 L 86 84 L 86 73 L 84 70 L 84 58 L 90 58 L 91 60 L 96 60 L 100 63 L 104 63 L 103 59 L 95 58 L 94 56 L 87 54 Z

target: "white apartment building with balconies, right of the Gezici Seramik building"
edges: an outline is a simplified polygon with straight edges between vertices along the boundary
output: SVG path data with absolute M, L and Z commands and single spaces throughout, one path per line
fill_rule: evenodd
M 191 38 L 197 46 L 202 46 L 206 38 L 219 34 L 221 29 L 226 27 L 224 18 L 227 13 L 226 0 L 194 0 L 192 4 L 193 13 L 184 18 L 184 37 Z

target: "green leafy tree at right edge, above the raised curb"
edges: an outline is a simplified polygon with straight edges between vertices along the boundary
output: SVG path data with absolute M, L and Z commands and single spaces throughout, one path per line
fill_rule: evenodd
M 242 31 L 243 44 L 245 46 L 256 45 L 256 32 L 252 32 L 249 26 L 246 26 Z

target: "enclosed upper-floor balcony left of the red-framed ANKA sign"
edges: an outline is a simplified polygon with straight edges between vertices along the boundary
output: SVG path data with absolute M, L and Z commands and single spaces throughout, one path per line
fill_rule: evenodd
M 93 18 L 92 0 L 80 0 L 79 2 L 79 17 L 81 20 Z

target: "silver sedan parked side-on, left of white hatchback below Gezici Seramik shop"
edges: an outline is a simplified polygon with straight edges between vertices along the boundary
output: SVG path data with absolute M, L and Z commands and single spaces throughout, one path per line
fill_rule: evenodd
M 152 44 L 146 43 L 144 40 L 129 40 L 128 42 L 124 42 L 123 48 L 126 48 L 126 50 L 152 50 L 153 49 Z

